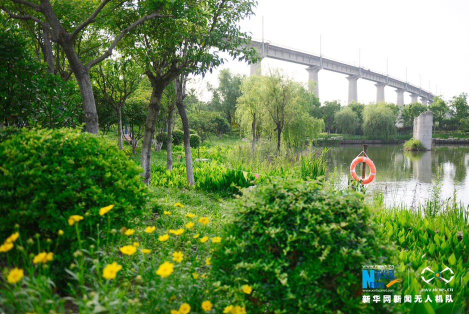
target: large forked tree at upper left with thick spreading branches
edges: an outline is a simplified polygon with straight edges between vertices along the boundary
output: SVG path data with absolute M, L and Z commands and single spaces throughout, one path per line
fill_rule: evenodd
M 40 4 L 27 0 L 9 0 L 6 2 L 9 4 L 8 7 L 0 6 L 10 18 L 35 21 L 47 31 L 47 34 L 50 34 L 51 41 L 57 42 L 62 47 L 68 65 L 80 87 L 86 131 L 96 134 L 98 133 L 98 117 L 89 70 L 93 65 L 111 55 L 117 43 L 135 26 L 154 17 L 169 17 L 169 15 L 158 14 L 161 7 L 166 4 L 165 0 L 155 0 L 151 3 L 121 1 L 112 7 L 107 5 L 109 2 L 110 0 L 102 0 L 97 6 L 94 6 L 93 2 L 87 1 L 81 2 L 80 5 L 69 5 L 66 2 L 50 2 L 50 0 L 40 0 Z M 6 3 L 5 5 L 7 5 Z M 146 3 L 148 6 L 139 5 Z M 91 11 L 92 13 L 89 14 Z M 23 14 L 23 12 L 31 13 Z M 128 21 L 130 16 L 141 17 L 135 17 L 135 19 Z M 112 27 L 116 21 L 124 19 L 128 21 L 128 26 L 121 28 L 120 32 L 116 33 L 112 42 L 101 55 L 84 63 L 76 51 L 76 37 L 95 22 L 104 30 L 104 27 Z

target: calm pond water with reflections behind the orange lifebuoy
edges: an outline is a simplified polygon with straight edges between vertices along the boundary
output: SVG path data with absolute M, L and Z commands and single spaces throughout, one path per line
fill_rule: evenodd
M 331 179 L 346 186 L 351 161 L 361 152 L 362 145 L 327 146 L 327 166 Z M 440 197 L 448 199 L 456 189 L 457 201 L 469 205 L 469 146 L 432 145 L 431 151 L 405 152 L 400 145 L 370 144 L 367 155 L 376 166 L 376 177 L 367 184 L 367 195 L 382 191 L 386 203 L 405 203 L 417 206 L 431 193 L 439 179 L 442 183 Z M 356 172 L 361 177 L 361 164 Z M 366 175 L 369 167 L 366 167 Z M 351 179 L 351 176 L 350 176 Z

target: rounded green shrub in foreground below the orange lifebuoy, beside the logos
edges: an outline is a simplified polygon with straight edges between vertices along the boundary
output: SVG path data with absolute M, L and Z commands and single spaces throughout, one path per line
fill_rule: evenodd
M 361 265 L 391 254 L 352 191 L 273 181 L 244 191 L 227 209 L 232 224 L 212 271 L 233 302 L 253 313 L 362 312 Z M 242 292 L 245 284 L 252 293 Z

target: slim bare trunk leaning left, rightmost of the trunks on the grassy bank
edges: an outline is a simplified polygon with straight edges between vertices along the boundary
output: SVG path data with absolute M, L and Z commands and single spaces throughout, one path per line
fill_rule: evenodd
M 180 74 L 174 79 L 174 90 L 176 92 L 176 107 L 181 117 L 182 129 L 184 131 L 184 152 L 185 152 L 185 169 L 187 174 L 187 184 L 190 187 L 194 185 L 194 172 L 192 168 L 192 155 L 190 154 L 190 133 L 189 133 L 189 119 L 185 112 L 185 106 L 183 103 L 185 93 L 185 83 L 187 81 L 186 74 Z

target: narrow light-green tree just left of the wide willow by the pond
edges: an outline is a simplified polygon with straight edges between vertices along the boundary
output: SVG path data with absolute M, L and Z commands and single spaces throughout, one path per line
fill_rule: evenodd
M 232 74 L 228 68 L 221 69 L 218 73 L 218 87 L 212 89 L 212 107 L 225 114 L 230 132 L 232 117 L 236 110 L 236 99 L 241 95 L 240 86 L 243 77 L 241 74 Z

